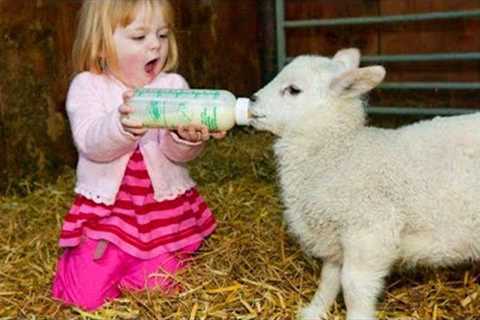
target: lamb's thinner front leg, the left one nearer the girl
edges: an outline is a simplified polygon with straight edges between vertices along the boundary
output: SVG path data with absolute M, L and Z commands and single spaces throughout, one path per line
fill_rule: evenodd
M 320 285 L 310 304 L 302 309 L 299 320 L 327 319 L 328 310 L 340 291 L 341 265 L 325 260 L 322 266 Z

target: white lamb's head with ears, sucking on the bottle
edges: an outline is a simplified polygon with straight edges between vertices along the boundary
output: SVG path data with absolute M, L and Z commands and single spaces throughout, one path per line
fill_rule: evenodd
M 363 124 L 360 96 L 383 80 L 385 69 L 359 68 L 359 62 L 357 49 L 340 50 L 331 59 L 295 58 L 254 95 L 252 125 L 283 136 L 285 132 L 321 129 L 332 121 L 345 122 L 340 115 L 352 116 L 355 112 Z

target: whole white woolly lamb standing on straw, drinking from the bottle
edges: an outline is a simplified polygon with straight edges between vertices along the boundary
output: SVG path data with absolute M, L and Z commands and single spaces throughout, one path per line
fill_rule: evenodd
M 326 317 L 340 289 L 348 320 L 375 319 L 395 262 L 480 257 L 480 114 L 366 127 L 361 95 L 385 70 L 359 60 L 357 49 L 298 57 L 254 96 L 253 126 L 278 136 L 289 230 L 323 260 L 299 319 Z

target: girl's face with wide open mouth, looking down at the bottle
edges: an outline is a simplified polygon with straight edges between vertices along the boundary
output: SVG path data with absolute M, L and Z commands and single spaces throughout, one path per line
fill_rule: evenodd
M 113 33 L 119 68 L 115 75 L 128 87 L 150 83 L 165 65 L 169 30 L 156 11 L 147 19 L 145 6 L 139 7 L 132 23 L 118 26 Z

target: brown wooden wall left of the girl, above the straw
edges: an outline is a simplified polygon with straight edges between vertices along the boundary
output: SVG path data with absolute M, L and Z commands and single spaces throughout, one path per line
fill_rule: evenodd
M 0 1 L 0 190 L 75 163 L 63 106 L 78 4 Z

